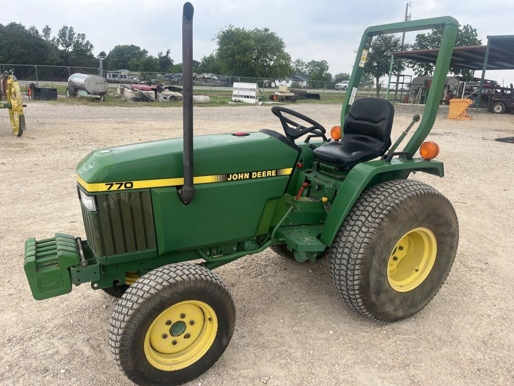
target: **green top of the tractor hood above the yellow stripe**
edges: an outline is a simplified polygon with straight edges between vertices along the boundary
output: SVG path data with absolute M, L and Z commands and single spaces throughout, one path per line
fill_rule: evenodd
M 294 145 L 262 132 L 194 137 L 195 179 L 292 168 L 297 157 Z M 77 175 L 83 187 L 95 191 L 87 185 L 181 179 L 182 162 L 182 138 L 164 139 L 91 152 L 77 165 Z

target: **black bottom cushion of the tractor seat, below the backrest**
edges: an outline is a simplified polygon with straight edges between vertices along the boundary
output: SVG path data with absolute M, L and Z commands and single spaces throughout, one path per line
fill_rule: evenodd
M 385 145 L 371 136 L 346 134 L 343 141 L 331 141 L 314 150 L 314 156 L 327 164 L 352 167 L 373 160 Z

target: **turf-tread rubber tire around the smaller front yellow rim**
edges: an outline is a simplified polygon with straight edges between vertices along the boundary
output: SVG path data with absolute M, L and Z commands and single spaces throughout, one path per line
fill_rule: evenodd
M 135 344 L 138 343 L 138 340 L 134 338 L 137 334 L 135 331 L 144 331 L 143 324 L 149 326 L 154 319 L 151 317 L 150 321 L 145 320 L 144 313 L 153 311 L 158 315 L 163 310 L 162 308 L 156 309 L 155 305 L 152 306 L 152 302 L 155 303 L 155 301 L 151 299 L 158 300 L 158 305 L 162 305 L 162 302 L 166 301 L 167 290 L 173 291 L 172 293 L 178 297 L 182 293 L 198 287 L 219 299 L 224 306 L 223 314 L 216 312 L 218 330 L 207 353 L 188 367 L 171 372 L 155 369 L 146 361 L 144 353 L 142 358 L 135 358 L 134 352 L 139 349 Z M 160 300 L 159 297 L 161 297 Z M 219 323 L 222 319 L 227 322 L 225 329 Z M 120 370 L 134 383 L 140 386 L 172 386 L 188 382 L 210 369 L 228 346 L 234 326 L 234 302 L 228 287 L 221 279 L 207 268 L 199 265 L 170 264 L 142 275 L 121 297 L 111 318 L 109 346 L 111 346 L 111 353 Z M 150 369 L 150 373 L 148 369 Z M 173 379 L 170 379 L 170 374 Z

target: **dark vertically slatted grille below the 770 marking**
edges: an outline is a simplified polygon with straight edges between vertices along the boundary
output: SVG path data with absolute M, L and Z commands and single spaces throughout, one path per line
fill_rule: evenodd
M 98 212 L 82 205 L 88 243 L 97 257 L 156 248 L 149 190 L 97 195 Z

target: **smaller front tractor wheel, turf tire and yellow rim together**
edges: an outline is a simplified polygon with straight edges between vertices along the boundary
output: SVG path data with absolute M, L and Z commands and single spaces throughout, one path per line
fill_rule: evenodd
M 214 273 L 194 264 L 170 264 L 127 289 L 111 318 L 109 344 L 131 381 L 178 385 L 221 357 L 234 326 L 230 291 Z

